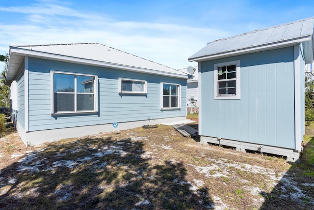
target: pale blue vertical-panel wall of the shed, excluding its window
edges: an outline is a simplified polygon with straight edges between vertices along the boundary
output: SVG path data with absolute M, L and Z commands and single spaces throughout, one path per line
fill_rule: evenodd
M 241 98 L 214 100 L 213 66 L 234 60 L 240 60 Z M 294 149 L 293 47 L 200 64 L 201 135 Z

